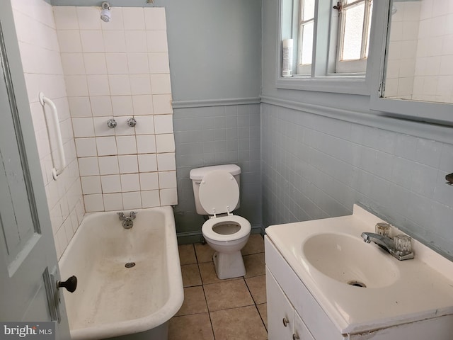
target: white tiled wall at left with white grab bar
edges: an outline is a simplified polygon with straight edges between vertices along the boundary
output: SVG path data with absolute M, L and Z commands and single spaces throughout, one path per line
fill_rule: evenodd
M 14 21 L 33 118 L 42 176 L 50 210 L 52 232 L 58 257 L 61 256 L 84 217 L 71 117 L 64 85 L 62 62 L 52 6 L 44 0 L 13 0 Z M 51 98 L 58 108 L 67 167 L 52 179 L 52 168 L 59 166 L 50 112 L 43 111 L 38 93 Z M 50 131 L 50 137 L 47 133 Z

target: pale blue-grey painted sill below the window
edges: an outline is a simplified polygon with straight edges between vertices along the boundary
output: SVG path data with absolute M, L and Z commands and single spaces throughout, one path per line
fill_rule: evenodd
M 369 84 L 365 75 L 326 77 L 277 77 L 277 89 L 331 92 L 335 94 L 358 94 L 369 96 Z

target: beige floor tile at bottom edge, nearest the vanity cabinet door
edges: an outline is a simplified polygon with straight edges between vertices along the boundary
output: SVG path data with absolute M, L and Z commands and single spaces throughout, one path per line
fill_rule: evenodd
M 255 306 L 218 310 L 210 312 L 210 316 L 216 340 L 268 339 L 268 334 Z

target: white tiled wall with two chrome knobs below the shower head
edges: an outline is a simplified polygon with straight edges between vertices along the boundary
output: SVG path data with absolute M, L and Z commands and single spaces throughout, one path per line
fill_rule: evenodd
M 177 204 L 165 9 L 100 11 L 54 7 L 86 212 Z

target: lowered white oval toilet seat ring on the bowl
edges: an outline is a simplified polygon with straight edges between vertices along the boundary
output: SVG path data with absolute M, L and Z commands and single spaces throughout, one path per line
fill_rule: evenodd
M 233 234 L 219 234 L 215 232 L 214 229 L 212 229 L 219 223 L 225 222 L 235 222 L 241 228 L 237 232 L 234 232 Z M 248 222 L 248 220 L 238 215 L 213 217 L 207 220 L 201 227 L 203 236 L 212 239 L 212 241 L 218 242 L 234 241 L 236 239 L 241 239 L 242 237 L 246 237 L 248 234 L 250 234 L 251 229 L 252 227 L 250 225 L 250 222 Z

